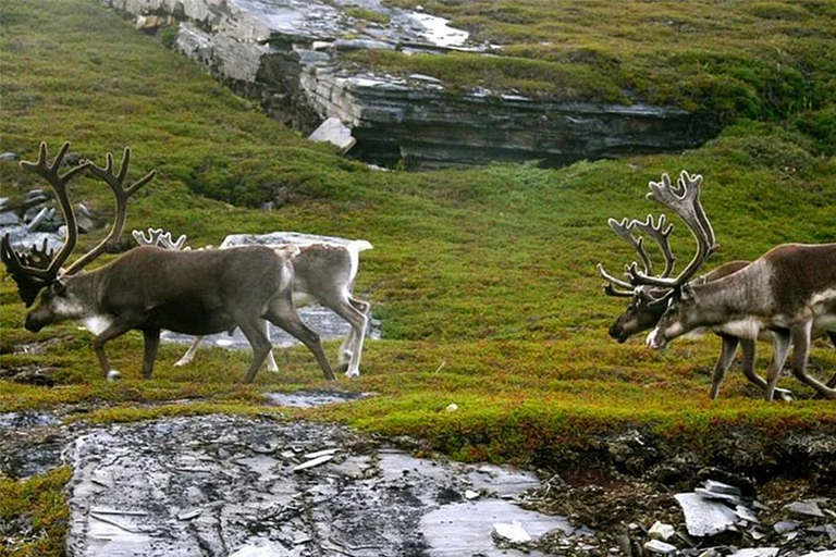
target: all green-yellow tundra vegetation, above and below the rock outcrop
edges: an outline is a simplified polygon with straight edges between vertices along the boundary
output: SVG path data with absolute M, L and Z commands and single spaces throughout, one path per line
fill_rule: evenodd
M 247 351 L 207 348 L 197 364 L 175 368 L 184 347 L 164 345 L 153 379 L 143 380 L 142 335 L 128 333 L 109 345 L 123 379 L 108 383 L 88 332 L 72 323 L 38 335 L 23 329 L 25 308 L 0 271 L 1 368 L 46 368 L 57 382 L 0 381 L 0 412 L 75 405 L 86 411 L 73 419 L 95 422 L 274 412 L 411 435 L 454 458 L 552 470 L 580 458 L 595 435 L 628 428 L 709 459 L 740 429 L 760 455 L 791 433 L 836 433 L 833 401 L 811 399 L 812 391 L 791 380 L 782 386 L 795 401 L 766 404 L 733 370 L 724 396 L 710 400 L 720 348 L 713 335 L 664 352 L 640 338 L 612 341 L 607 327 L 624 307 L 601 295 L 595 272 L 599 262 L 613 269 L 635 257 L 607 218 L 655 212 L 643 199 L 648 181 L 681 169 L 705 178 L 702 200 L 721 244 L 706 269 L 753 260 L 782 243 L 834 242 L 834 4 L 421 3 L 508 47 L 495 60 L 397 58 L 393 67 L 460 76 L 463 88 L 525 92 L 531 76 L 546 76 L 530 90 L 713 110 L 726 127 L 681 154 L 558 170 L 527 163 L 373 172 L 270 121 L 101 2 L 2 0 L 1 151 L 35 160 L 39 140 L 54 148 L 70 140 L 71 154 L 102 164 L 101 153 L 130 145 L 133 165 L 158 175 L 132 199 L 127 230 L 163 227 L 188 234 L 194 245 L 275 230 L 368 239 L 374 249 L 362 255 L 355 292 L 371 302 L 383 338 L 367 343 L 360 377 L 336 383 L 377 393 L 351 405 L 262 405 L 268 391 L 334 388 L 304 347 L 275 350 L 280 372 L 242 385 L 235 377 L 246 372 Z M 555 90 L 573 83 L 577 88 Z M 612 98 L 583 92 L 591 88 Z M 3 196 L 41 187 L 16 163 L 0 164 Z M 88 201 L 100 230 L 108 228 L 107 188 L 79 176 L 71 197 Z M 265 201 L 276 209 L 255 209 Z M 102 234 L 79 237 L 79 248 Z M 692 249 L 684 233 L 672 244 L 677 252 Z M 337 345 L 327 345 L 331 358 Z M 757 369 L 766 369 L 769 354 L 759 350 Z M 808 370 L 829 376 L 836 351 L 814 342 Z M 193 404 L 163 404 L 185 399 Z M 444 411 L 451 403 L 457 411 Z M 27 482 L 0 478 L 0 520 L 24 517 L 46 532 L 13 555 L 62 554 L 66 479 L 65 470 Z

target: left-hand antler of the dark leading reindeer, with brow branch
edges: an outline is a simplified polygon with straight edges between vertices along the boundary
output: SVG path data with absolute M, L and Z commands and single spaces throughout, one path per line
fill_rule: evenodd
M 38 162 L 21 161 L 22 168 L 35 172 L 52 186 L 56 199 L 58 199 L 61 212 L 64 215 L 64 223 L 66 224 L 64 244 L 52 259 L 49 259 L 47 255 L 46 244 L 41 250 L 35 249 L 30 256 L 21 256 L 12 249 L 9 234 L 2 239 L 0 259 L 5 263 L 5 268 L 9 274 L 12 275 L 12 278 L 14 278 L 14 282 L 17 283 L 17 293 L 26 307 L 32 306 L 41 288 L 58 277 L 61 265 L 73 252 L 75 243 L 78 239 L 78 227 L 75 222 L 72 205 L 70 203 L 66 185 L 78 173 L 87 169 L 90 163 L 83 162 L 70 169 L 64 175 L 60 175 L 58 171 L 69 149 L 70 143 L 64 143 L 50 165 L 47 162 L 47 144 L 41 141 Z

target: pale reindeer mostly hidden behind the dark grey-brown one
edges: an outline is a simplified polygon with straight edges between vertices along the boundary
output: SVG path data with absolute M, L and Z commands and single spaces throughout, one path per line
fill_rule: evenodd
M 158 245 L 175 250 L 189 249 L 185 246 L 185 235 L 173 240 L 171 233 L 163 233 L 161 228 L 149 228 L 147 237 L 143 231 L 133 231 L 133 236 L 139 245 Z M 358 376 L 370 305 L 352 296 L 352 285 L 357 275 L 359 252 L 371 249 L 372 246 L 362 239 L 336 244 L 327 239 L 300 238 L 292 243 L 299 249 L 293 260 L 293 302 L 296 308 L 318 302 L 348 322 L 352 330 L 340 347 L 339 363 L 346 376 Z M 220 249 L 236 248 L 221 245 Z M 267 322 L 263 324 L 267 327 Z M 174 366 L 190 363 L 201 341 L 202 337 L 196 337 L 186 354 Z M 268 354 L 267 366 L 270 371 L 279 370 L 272 350 Z

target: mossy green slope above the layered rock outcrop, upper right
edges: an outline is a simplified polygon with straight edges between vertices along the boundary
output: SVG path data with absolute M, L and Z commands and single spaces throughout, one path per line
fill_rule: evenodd
M 827 0 L 595 2 L 388 0 L 448 17 L 496 57 L 357 52 L 386 72 L 560 100 L 629 102 L 784 119 L 836 99 Z

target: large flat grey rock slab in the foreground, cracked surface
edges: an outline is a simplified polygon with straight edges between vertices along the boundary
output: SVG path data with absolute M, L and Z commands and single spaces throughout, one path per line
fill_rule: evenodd
M 112 425 L 69 454 L 73 557 L 517 555 L 493 545 L 494 523 L 571 531 L 493 495 L 531 474 L 416 459 L 337 425 L 174 418 Z M 471 488 L 483 496 L 466 502 Z

